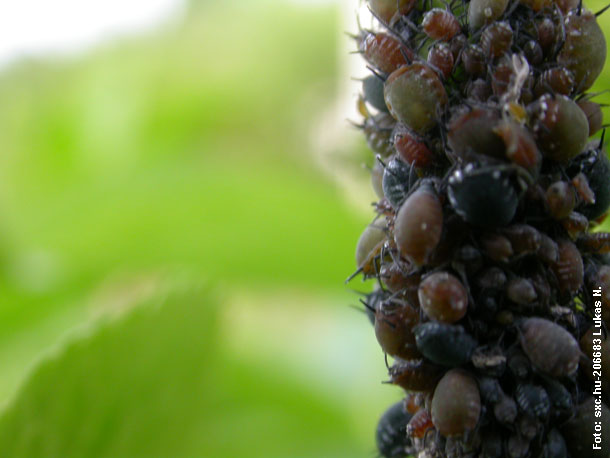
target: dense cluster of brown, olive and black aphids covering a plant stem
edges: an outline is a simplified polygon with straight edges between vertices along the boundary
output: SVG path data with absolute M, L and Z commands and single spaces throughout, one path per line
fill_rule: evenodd
M 405 399 L 384 457 L 610 454 L 606 59 L 578 0 L 368 0 L 354 37 L 375 155 L 356 249 L 363 303 Z M 600 138 L 590 140 L 598 134 Z M 602 343 L 593 340 L 601 287 Z M 604 453 L 591 448 L 601 351 Z

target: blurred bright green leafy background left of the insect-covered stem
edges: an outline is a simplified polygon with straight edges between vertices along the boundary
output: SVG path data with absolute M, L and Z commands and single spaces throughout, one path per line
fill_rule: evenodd
M 198 2 L 0 75 L 1 456 L 375 456 L 342 8 Z

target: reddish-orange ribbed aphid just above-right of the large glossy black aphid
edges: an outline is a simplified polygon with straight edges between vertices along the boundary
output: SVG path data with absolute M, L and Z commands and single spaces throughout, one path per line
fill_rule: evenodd
M 494 129 L 502 138 L 506 156 L 515 164 L 536 173 L 542 162 L 542 154 L 528 129 L 514 121 L 504 120 Z

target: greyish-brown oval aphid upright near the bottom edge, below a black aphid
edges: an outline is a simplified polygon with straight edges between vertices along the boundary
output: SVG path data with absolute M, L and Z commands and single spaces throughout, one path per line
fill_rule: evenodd
M 434 390 L 431 414 L 434 426 L 445 437 L 472 431 L 481 415 L 481 396 L 475 379 L 461 369 L 448 371 Z

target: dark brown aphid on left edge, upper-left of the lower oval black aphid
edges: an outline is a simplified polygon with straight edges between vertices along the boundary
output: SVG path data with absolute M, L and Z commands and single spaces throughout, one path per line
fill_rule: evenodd
M 402 359 L 421 357 L 413 334 L 418 323 L 419 312 L 409 304 L 382 303 L 375 312 L 375 336 L 381 349 Z

